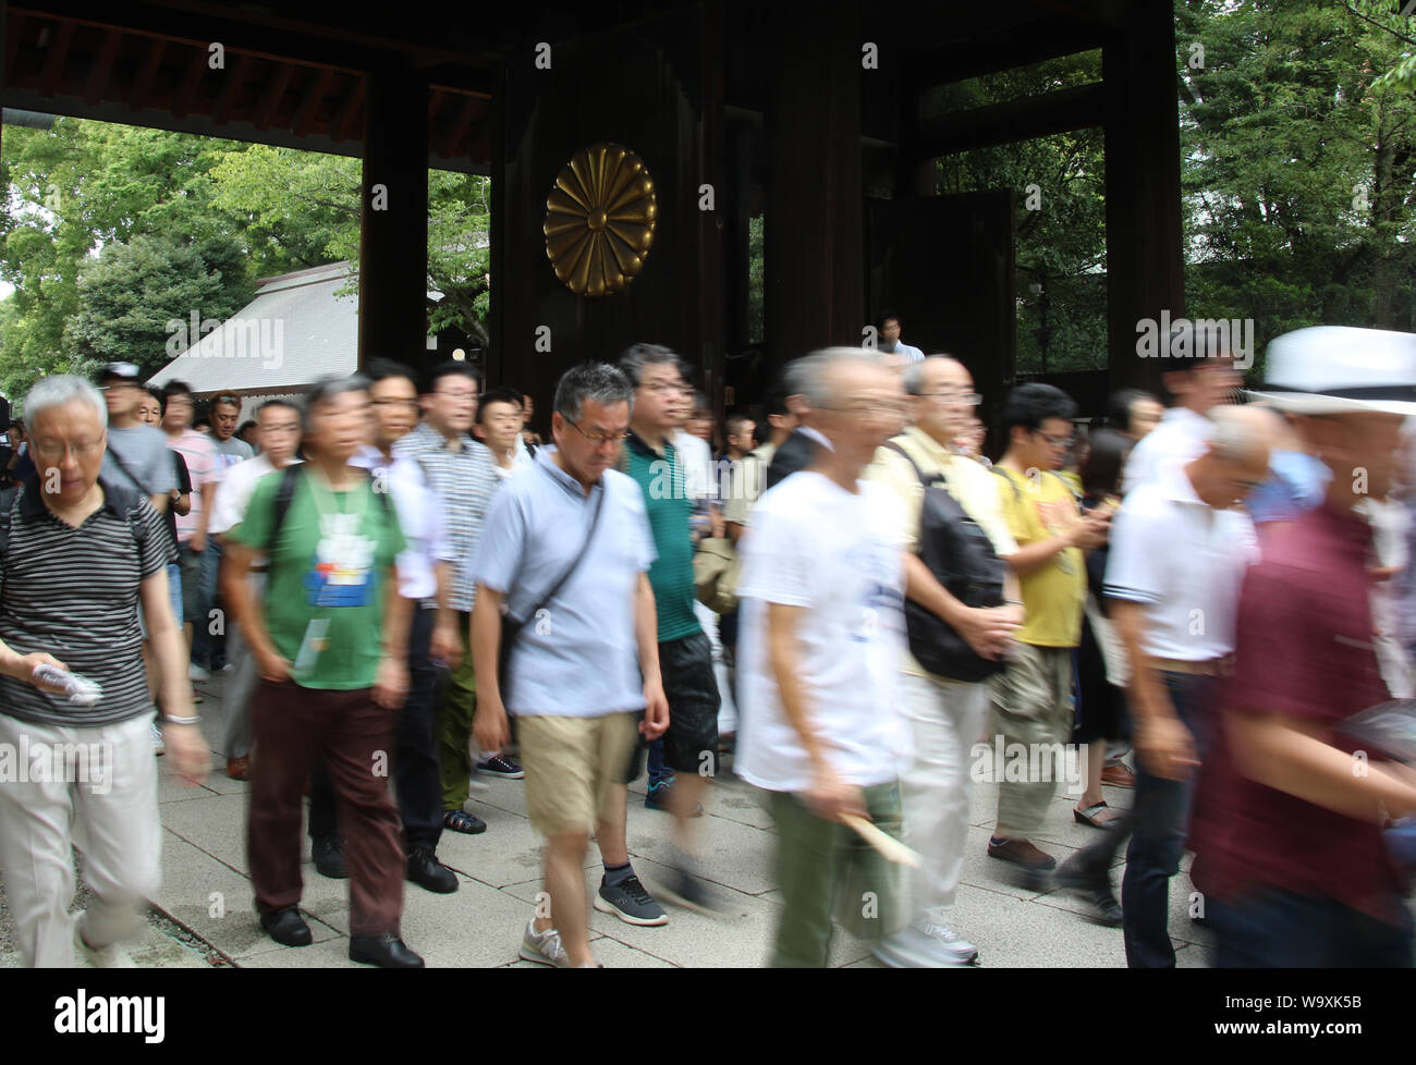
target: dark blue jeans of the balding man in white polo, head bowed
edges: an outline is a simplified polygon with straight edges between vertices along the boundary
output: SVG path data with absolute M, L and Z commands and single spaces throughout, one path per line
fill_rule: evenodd
M 1195 738 L 1195 753 L 1205 759 L 1215 718 L 1218 677 L 1163 673 L 1165 691 L 1181 724 Z M 1180 871 L 1189 827 L 1194 775 L 1188 780 L 1167 780 L 1136 759 L 1136 800 L 1121 878 L 1121 930 L 1126 964 L 1133 969 L 1174 969 L 1175 947 L 1170 942 L 1170 878 Z

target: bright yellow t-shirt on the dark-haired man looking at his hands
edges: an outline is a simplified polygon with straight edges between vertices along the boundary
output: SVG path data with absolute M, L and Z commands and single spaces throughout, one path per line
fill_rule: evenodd
M 1080 510 L 1066 482 L 1052 473 L 1024 477 L 994 466 L 998 500 L 1018 547 L 1051 540 L 1078 521 Z M 1086 558 L 1082 548 L 1058 551 L 1037 569 L 1018 576 L 1024 623 L 1015 639 L 1037 647 L 1076 647 L 1082 642 L 1086 600 Z

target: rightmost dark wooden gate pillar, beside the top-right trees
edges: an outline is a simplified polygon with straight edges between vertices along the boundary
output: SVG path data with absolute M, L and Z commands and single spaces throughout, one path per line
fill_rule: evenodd
M 1127 8 L 1102 50 L 1106 292 L 1112 389 L 1158 392 L 1164 360 L 1136 354 L 1138 323 L 1185 313 L 1175 20 L 1168 0 Z

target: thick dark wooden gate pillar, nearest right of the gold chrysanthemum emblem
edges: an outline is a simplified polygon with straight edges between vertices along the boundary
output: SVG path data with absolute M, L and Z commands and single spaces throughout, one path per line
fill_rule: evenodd
M 773 8 L 766 98 L 766 370 L 864 321 L 861 31 L 854 0 Z

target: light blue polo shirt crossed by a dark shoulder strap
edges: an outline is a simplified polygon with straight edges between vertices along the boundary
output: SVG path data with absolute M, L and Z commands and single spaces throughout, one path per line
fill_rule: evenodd
M 493 497 L 473 564 L 476 582 L 503 592 L 511 613 L 527 619 L 501 701 L 524 717 L 643 710 L 634 602 L 639 576 L 656 558 L 643 493 L 606 470 L 586 497 L 552 462 L 554 450 L 538 449 L 532 469 Z M 545 612 L 527 617 L 579 552 L 602 491 L 609 494 L 585 558 Z

